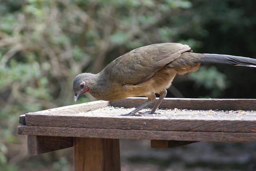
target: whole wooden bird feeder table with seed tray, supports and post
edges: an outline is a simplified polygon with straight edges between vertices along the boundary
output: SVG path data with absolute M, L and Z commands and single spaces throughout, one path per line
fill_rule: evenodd
M 18 134 L 28 135 L 29 155 L 73 147 L 75 171 L 120 170 L 119 139 L 150 139 L 154 148 L 256 142 L 256 99 L 165 98 L 161 115 L 120 116 L 144 101 L 132 97 L 26 113 Z

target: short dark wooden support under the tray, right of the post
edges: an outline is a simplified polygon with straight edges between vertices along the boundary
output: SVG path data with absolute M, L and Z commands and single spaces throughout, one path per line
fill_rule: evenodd
M 196 143 L 198 141 L 175 141 L 175 140 L 151 140 L 151 148 L 167 149 Z

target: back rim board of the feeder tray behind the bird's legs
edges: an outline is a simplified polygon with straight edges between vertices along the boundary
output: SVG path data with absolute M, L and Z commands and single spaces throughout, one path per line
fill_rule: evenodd
M 158 98 L 157 98 L 158 99 Z M 129 97 L 118 101 L 110 101 L 114 107 L 138 107 L 147 98 Z M 152 108 L 154 104 L 149 107 Z M 192 99 L 192 98 L 164 98 L 159 108 L 180 108 L 195 110 L 256 110 L 256 99 Z

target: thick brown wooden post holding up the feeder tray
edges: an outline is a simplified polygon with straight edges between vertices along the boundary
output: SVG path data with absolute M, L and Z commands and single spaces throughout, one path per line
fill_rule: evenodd
M 120 171 L 119 139 L 73 137 L 75 171 Z

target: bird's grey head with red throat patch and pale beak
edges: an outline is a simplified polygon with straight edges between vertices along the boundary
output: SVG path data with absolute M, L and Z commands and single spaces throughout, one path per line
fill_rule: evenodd
M 79 74 L 76 76 L 73 82 L 73 90 L 74 90 L 74 101 L 76 101 L 80 94 L 88 91 L 88 80 L 84 80 L 83 74 Z

